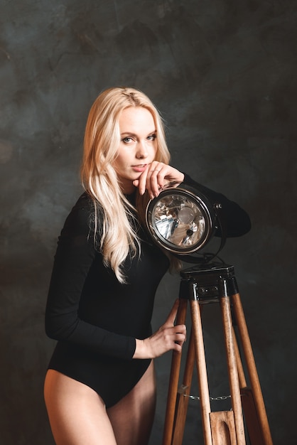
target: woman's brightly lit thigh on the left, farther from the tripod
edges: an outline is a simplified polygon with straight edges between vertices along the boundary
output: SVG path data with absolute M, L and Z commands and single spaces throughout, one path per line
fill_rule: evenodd
M 44 395 L 56 445 L 117 445 L 104 402 L 90 387 L 48 370 Z

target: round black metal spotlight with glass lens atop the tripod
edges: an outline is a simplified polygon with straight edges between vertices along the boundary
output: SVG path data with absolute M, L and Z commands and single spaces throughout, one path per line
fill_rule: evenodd
M 222 206 L 190 186 L 163 189 L 157 198 L 148 201 L 145 222 L 153 240 L 185 262 L 193 262 L 191 255 L 207 245 L 218 227 L 221 244 L 211 257 L 225 244 Z

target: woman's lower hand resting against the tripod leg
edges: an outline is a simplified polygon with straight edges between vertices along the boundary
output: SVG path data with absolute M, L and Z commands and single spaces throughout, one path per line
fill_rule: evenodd
M 179 301 L 176 300 L 166 322 L 151 337 L 144 340 L 136 339 L 136 349 L 133 358 L 156 358 L 168 350 L 181 352 L 185 342 L 185 325 L 174 325 Z

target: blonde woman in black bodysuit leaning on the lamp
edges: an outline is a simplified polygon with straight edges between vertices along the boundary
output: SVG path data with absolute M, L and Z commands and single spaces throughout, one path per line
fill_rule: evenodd
M 180 351 L 185 326 L 175 302 L 151 333 L 153 300 L 169 259 L 139 223 L 136 192 L 156 197 L 167 183 L 193 181 L 168 165 L 156 107 L 142 92 L 115 87 L 92 105 L 79 198 L 61 232 L 45 313 L 58 340 L 45 377 L 57 445 L 146 445 L 156 405 L 153 358 Z M 195 183 L 194 183 L 195 184 Z M 208 190 L 208 189 L 207 189 Z M 229 236 L 249 217 L 222 195 Z

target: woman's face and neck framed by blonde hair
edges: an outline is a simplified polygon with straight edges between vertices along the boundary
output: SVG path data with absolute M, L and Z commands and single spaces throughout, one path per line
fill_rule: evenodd
M 119 131 L 121 144 L 114 169 L 124 193 L 132 193 L 132 181 L 141 176 L 156 156 L 158 145 L 153 115 L 143 107 L 125 108 L 119 117 Z

